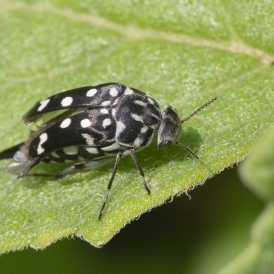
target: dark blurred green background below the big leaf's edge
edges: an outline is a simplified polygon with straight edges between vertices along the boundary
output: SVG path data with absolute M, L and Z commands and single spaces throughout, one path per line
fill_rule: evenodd
M 212 274 L 249 242 L 264 204 L 225 169 L 189 197 L 175 197 L 142 214 L 101 249 L 79 238 L 43 251 L 28 248 L 0 257 L 1 273 Z

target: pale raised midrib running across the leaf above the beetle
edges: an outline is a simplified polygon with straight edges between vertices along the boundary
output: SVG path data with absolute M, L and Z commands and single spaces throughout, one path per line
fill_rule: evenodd
M 94 14 L 83 14 L 75 12 L 68 8 L 61 9 L 56 8 L 49 3 L 38 3 L 35 5 L 26 5 L 25 3 L 15 2 L 5 5 L 6 10 L 26 10 L 28 12 L 40 12 L 49 13 L 63 18 L 67 18 L 71 21 L 77 21 L 79 23 L 88 23 L 94 27 L 103 27 L 104 29 L 112 30 L 118 34 L 126 36 L 131 39 L 149 39 L 149 40 L 165 40 L 169 42 L 181 43 L 186 45 L 192 45 L 195 47 L 208 47 L 212 49 L 221 49 L 222 51 L 228 51 L 231 53 L 242 53 L 249 55 L 252 58 L 256 58 L 262 62 L 262 64 L 271 64 L 274 60 L 274 56 L 246 45 L 242 40 L 238 40 L 237 35 L 233 35 L 234 40 L 231 42 L 216 42 L 205 38 L 197 38 L 184 34 L 172 34 L 166 32 L 160 32 L 151 29 L 140 29 L 132 25 L 121 25 L 114 21 L 110 21 L 107 18 L 96 16 Z M 226 16 L 227 17 L 227 16 Z M 229 25 L 229 31 L 232 34 L 236 34 L 232 25 Z

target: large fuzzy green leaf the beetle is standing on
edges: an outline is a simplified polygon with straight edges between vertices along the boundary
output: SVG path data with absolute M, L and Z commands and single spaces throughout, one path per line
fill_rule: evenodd
M 267 1 L 3 0 L 0 149 L 25 140 L 21 116 L 36 101 L 79 86 L 122 82 L 162 107 L 173 105 L 182 118 L 218 100 L 184 125 L 182 142 L 200 160 L 155 142 L 137 153 L 149 197 L 132 161 L 123 159 L 102 221 L 113 164 L 55 181 L 16 179 L 2 161 L 0 252 L 43 248 L 73 234 L 103 245 L 142 212 L 251 153 L 274 120 L 271 8 Z

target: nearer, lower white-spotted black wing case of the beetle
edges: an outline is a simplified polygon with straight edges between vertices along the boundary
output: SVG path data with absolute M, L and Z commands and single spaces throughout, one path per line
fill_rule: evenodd
M 28 158 L 43 158 L 65 147 L 101 147 L 114 141 L 116 125 L 108 108 L 86 110 L 62 119 L 50 127 L 40 127 L 32 132 L 21 148 Z M 64 118 L 64 117 L 63 117 Z

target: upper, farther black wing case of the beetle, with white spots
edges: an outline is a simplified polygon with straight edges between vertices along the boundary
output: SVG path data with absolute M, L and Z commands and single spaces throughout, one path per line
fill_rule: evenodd
M 105 108 L 125 91 L 125 85 L 119 83 L 85 86 L 60 92 L 39 101 L 24 116 L 25 123 L 32 123 L 48 112 L 69 108 Z

